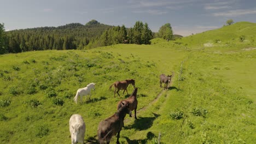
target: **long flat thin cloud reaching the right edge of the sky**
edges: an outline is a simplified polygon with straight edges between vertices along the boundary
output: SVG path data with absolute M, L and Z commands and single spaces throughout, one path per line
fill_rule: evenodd
M 248 14 L 256 14 L 256 9 L 238 9 L 238 10 L 229 10 L 222 13 L 213 13 L 213 16 L 241 16 Z

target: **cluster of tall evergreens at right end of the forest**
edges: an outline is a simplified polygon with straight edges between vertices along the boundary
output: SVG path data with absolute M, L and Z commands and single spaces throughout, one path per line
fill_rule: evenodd
M 153 33 L 148 27 L 148 23 L 143 24 L 137 21 L 133 28 L 125 28 L 125 26 L 117 26 L 109 28 L 101 35 L 101 45 L 113 45 L 120 43 L 130 44 L 150 44 Z

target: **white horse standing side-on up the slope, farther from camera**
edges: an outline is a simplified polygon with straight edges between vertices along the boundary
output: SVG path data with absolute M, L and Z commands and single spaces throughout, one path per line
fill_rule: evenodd
M 81 101 L 83 100 L 83 96 L 84 95 L 86 95 L 86 99 L 87 99 L 87 95 L 88 94 L 90 94 L 90 97 L 89 97 L 89 99 L 91 98 L 91 89 L 95 89 L 95 86 L 96 85 L 96 83 L 89 83 L 86 87 L 84 87 L 84 88 L 79 88 L 78 90 L 77 90 L 77 94 L 75 95 L 75 97 L 74 97 L 74 101 L 75 101 L 75 104 L 77 104 L 77 99 L 78 99 L 78 97 L 80 96 L 80 99 L 81 99 Z

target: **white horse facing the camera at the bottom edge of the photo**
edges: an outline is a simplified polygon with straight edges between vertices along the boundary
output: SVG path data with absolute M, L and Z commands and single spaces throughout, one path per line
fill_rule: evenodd
M 74 114 L 69 119 L 71 143 L 84 143 L 85 123 L 82 116 Z

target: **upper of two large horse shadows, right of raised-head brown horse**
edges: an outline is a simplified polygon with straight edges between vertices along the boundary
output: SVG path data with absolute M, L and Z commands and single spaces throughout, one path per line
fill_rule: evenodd
M 156 118 L 158 118 L 160 115 L 153 113 L 154 117 L 138 117 L 136 121 L 127 127 L 125 129 L 131 129 L 135 128 L 136 130 L 146 130 L 152 127 L 153 122 Z

